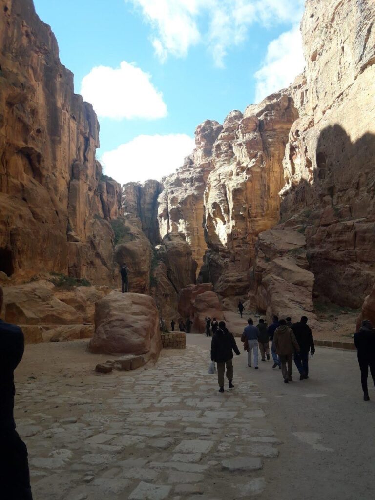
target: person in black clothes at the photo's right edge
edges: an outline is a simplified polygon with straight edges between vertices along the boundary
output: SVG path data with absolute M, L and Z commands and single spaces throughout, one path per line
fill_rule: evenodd
M 375 386 L 375 332 L 372 324 L 366 319 L 354 334 L 354 344 L 357 348 L 358 363 L 360 368 L 360 381 L 363 389 L 363 400 L 369 401 L 367 389 L 368 366 Z

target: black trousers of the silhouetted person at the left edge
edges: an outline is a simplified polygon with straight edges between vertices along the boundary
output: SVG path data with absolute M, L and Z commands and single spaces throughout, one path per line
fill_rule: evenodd
M 0 430 L 0 496 L 32 500 L 27 448 L 15 430 Z

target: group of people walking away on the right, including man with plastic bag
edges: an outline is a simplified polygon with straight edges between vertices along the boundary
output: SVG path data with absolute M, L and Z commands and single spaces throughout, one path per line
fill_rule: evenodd
M 302 316 L 300 321 L 291 322 L 291 318 L 278 319 L 273 316 L 272 323 L 267 326 L 264 319 L 259 319 L 255 326 L 251 318 L 247 319 L 241 342 L 247 351 L 247 366 L 258 369 L 258 349 L 261 361 L 269 360 L 269 341 L 271 341 L 272 368 L 280 368 L 285 383 L 292 381 L 293 359 L 299 372 L 299 380 L 308 378 L 308 356 L 315 352 L 312 332 L 307 324 L 307 317 Z M 233 351 L 239 355 L 239 349 L 234 336 L 225 327 L 224 321 L 218 327 L 211 341 L 211 360 L 217 363 L 219 391 L 224 390 L 224 367 L 229 387 L 233 387 Z

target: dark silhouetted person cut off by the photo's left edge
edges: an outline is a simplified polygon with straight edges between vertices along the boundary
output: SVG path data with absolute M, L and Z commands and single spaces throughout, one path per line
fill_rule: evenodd
M 3 292 L 0 287 L 0 312 Z M 23 332 L 0 319 L 0 491 L 4 500 L 32 500 L 27 448 L 15 430 L 13 372 L 22 359 Z

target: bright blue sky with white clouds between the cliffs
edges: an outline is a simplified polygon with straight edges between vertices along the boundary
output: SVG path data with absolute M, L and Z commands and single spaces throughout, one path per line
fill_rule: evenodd
M 97 156 L 120 182 L 171 173 L 191 152 L 198 123 L 222 122 L 303 68 L 302 0 L 34 4 L 75 91 L 98 113 Z

